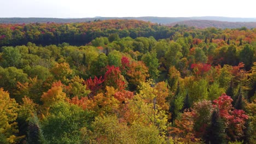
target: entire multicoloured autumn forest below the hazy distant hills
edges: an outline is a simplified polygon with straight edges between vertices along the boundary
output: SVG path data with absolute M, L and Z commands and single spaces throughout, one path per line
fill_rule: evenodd
M 0 46 L 0 143 L 255 143 L 255 28 L 0 24 Z

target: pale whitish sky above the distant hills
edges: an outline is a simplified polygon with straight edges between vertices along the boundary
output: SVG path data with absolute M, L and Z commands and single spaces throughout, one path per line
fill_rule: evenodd
M 0 17 L 256 17 L 255 0 L 0 0 Z

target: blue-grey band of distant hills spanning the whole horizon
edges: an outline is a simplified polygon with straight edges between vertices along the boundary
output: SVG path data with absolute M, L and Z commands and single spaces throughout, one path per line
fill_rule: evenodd
M 152 23 L 161 23 L 162 25 L 176 25 L 177 23 L 195 27 L 217 27 L 217 28 L 238 28 L 238 27 L 255 27 L 256 18 L 240 18 L 240 17 L 218 17 L 218 16 L 203 16 L 203 17 L 86 17 L 81 19 L 58 19 L 58 18 L 0 18 L 0 23 L 71 23 L 71 22 L 91 22 L 98 20 L 142 20 Z M 229 23 L 231 22 L 231 23 Z

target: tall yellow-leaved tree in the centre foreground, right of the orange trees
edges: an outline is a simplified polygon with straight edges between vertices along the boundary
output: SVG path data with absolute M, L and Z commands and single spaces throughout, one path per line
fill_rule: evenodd
M 167 128 L 167 115 L 157 104 L 157 90 L 151 87 L 152 82 L 142 82 L 139 93 L 129 101 L 125 119 L 129 123 L 154 125 L 164 136 Z

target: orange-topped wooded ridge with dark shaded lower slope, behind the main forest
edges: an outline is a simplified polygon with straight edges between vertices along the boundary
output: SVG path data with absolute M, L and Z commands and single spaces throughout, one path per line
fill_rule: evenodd
M 0 46 L 68 43 L 85 45 L 97 37 L 118 33 L 119 37 L 169 38 L 175 30 L 137 20 L 108 20 L 86 23 L 0 24 Z

